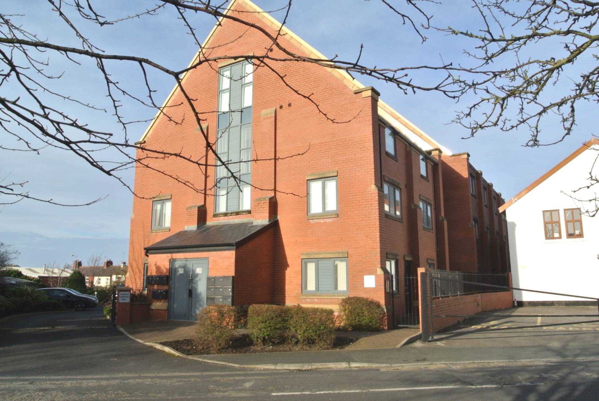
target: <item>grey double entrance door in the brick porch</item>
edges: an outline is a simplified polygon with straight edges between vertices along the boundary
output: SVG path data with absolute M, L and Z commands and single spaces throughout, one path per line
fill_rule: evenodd
M 195 320 L 206 306 L 207 259 L 171 260 L 168 316 L 173 320 Z

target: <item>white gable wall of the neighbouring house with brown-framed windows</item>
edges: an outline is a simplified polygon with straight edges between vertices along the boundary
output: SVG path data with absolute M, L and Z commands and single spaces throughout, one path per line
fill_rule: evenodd
M 584 238 L 567 239 L 564 209 L 580 204 L 561 193 L 588 185 L 585 177 L 599 155 L 597 150 L 597 145 L 585 150 L 507 208 L 513 287 L 599 298 L 599 214 L 582 216 Z M 595 165 L 597 172 L 599 166 Z M 589 191 L 578 195 L 597 197 Z M 542 212 L 554 209 L 559 209 L 562 238 L 546 240 Z M 519 301 L 583 301 L 528 291 L 514 291 L 514 297 Z

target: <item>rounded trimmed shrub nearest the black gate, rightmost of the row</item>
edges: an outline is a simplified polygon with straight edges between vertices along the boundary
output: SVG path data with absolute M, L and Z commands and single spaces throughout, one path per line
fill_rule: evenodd
M 385 308 L 379 301 L 364 297 L 347 297 L 339 303 L 341 327 L 352 331 L 385 329 Z

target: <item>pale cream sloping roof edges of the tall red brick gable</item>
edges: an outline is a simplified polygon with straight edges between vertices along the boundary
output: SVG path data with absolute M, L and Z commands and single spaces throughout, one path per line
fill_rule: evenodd
M 273 16 L 268 14 L 266 11 L 262 10 L 257 5 L 253 4 L 253 2 L 250 0 L 232 0 L 229 3 L 228 7 L 226 8 L 226 10 L 223 14 L 225 14 L 225 15 L 228 14 L 229 11 L 232 10 L 233 6 L 237 3 L 243 3 L 243 5 L 246 8 L 253 10 L 253 13 L 255 16 L 257 16 L 259 19 L 261 19 L 267 25 L 271 26 L 273 29 L 277 29 L 277 30 L 282 29 L 282 33 L 284 34 L 284 37 L 287 38 L 292 44 L 299 47 L 299 49 L 302 49 L 306 53 L 308 53 L 308 55 L 311 58 L 325 59 L 325 60 L 328 59 L 326 56 L 324 56 L 318 50 L 314 49 L 314 47 L 312 47 L 308 43 L 306 43 L 298 35 L 294 34 L 294 32 L 289 30 L 286 26 L 282 27 L 282 25 L 279 21 L 274 19 Z M 214 32 L 216 32 L 216 30 L 222 26 L 222 24 L 221 24 L 222 20 L 223 20 L 223 17 L 220 17 L 219 20 L 216 22 L 216 24 L 210 31 L 210 34 L 208 34 L 208 37 L 204 40 L 204 43 L 202 43 L 202 49 L 205 46 L 208 46 L 211 38 L 214 35 Z M 190 68 L 198 60 L 199 56 L 200 56 L 200 52 L 198 51 L 198 53 L 193 57 L 193 59 L 189 63 L 189 65 L 187 65 L 187 68 Z M 326 68 L 326 67 L 323 67 L 323 68 Z M 189 71 L 192 71 L 192 70 L 189 70 Z M 181 77 L 181 83 L 184 83 L 184 80 L 186 79 L 187 73 L 189 73 L 189 71 L 186 71 L 183 74 L 183 76 Z M 363 85 L 361 82 L 359 82 L 358 80 L 356 80 L 355 78 L 350 76 L 350 74 L 344 70 L 337 70 L 335 68 L 331 68 L 331 69 L 329 69 L 329 72 L 331 74 L 333 74 L 335 77 L 337 77 L 338 79 L 340 79 L 341 82 L 343 82 L 348 88 L 352 89 L 352 91 L 355 89 L 365 88 L 365 85 Z M 175 85 L 173 90 L 171 91 L 171 93 L 168 95 L 167 100 L 165 100 L 164 103 L 162 104 L 161 110 L 164 109 L 164 107 L 171 100 L 171 98 L 175 94 L 177 88 L 178 88 L 178 86 Z M 394 108 L 392 108 L 390 105 L 386 104 L 385 102 L 383 102 L 380 99 L 378 102 L 378 109 L 379 109 L 378 111 L 379 111 L 380 117 L 382 117 L 388 123 L 393 125 L 395 129 L 400 131 L 402 134 L 406 135 L 406 137 L 408 137 L 410 140 L 412 140 L 412 142 L 414 142 L 419 147 L 423 147 L 423 144 L 428 144 L 429 149 L 437 148 L 437 149 L 441 149 L 441 151 L 443 153 L 445 153 L 446 155 L 452 154 L 451 150 L 447 149 L 447 147 L 444 147 L 443 145 L 441 145 L 440 143 L 435 141 L 428 134 L 426 134 L 424 131 L 422 131 L 422 129 L 418 128 L 412 122 L 407 120 L 406 117 L 402 116 L 400 113 L 395 111 Z M 159 110 L 156 113 L 156 116 L 154 116 L 152 122 L 150 123 L 150 125 L 148 126 L 148 128 L 146 129 L 144 134 L 141 136 L 140 141 L 143 141 L 146 139 L 146 136 L 150 133 L 150 131 L 152 131 L 152 128 L 153 128 L 156 120 L 158 120 L 158 117 L 160 115 L 161 115 L 161 111 Z M 424 147 L 426 147 L 426 146 L 424 146 Z M 429 150 L 429 149 L 423 149 L 423 150 Z

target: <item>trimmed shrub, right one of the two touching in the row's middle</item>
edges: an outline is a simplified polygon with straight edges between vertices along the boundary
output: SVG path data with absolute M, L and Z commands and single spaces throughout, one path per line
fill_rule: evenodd
M 289 308 L 291 336 L 302 345 L 331 348 L 335 340 L 335 316 L 324 307 L 292 306 Z

